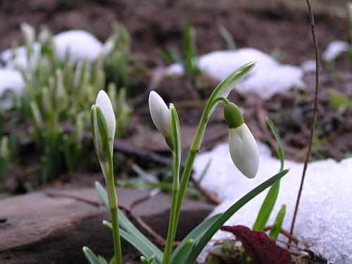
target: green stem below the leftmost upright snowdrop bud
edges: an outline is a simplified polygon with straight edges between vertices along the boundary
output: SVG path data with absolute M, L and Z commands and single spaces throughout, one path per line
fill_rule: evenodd
M 115 183 L 113 180 L 112 156 L 108 157 L 108 175 L 106 177 L 106 187 L 108 190 L 108 202 L 111 213 L 111 223 L 113 225 L 113 246 L 115 252 L 115 263 L 122 264 L 120 230 L 118 225 L 118 198 L 116 196 Z

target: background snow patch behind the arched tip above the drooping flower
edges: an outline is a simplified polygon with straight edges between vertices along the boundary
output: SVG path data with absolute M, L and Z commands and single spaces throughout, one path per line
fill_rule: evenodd
M 237 85 L 238 92 L 253 92 L 263 99 L 285 92 L 292 87 L 303 87 L 303 70 L 292 65 L 282 65 L 258 49 L 243 48 L 236 51 L 213 51 L 199 57 L 203 72 L 223 80 L 241 65 L 256 61 L 256 67 Z M 173 64 L 167 74 L 183 73 L 181 65 Z

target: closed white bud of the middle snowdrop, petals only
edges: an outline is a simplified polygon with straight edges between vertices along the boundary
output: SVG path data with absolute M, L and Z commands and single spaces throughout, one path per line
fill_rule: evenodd
M 159 132 L 165 137 L 170 137 L 171 133 L 171 114 L 170 109 L 156 92 L 149 94 L 149 111 L 151 119 Z

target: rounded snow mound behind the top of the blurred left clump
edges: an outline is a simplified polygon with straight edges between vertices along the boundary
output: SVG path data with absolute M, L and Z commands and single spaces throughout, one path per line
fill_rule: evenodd
M 65 59 L 66 52 L 70 53 L 70 61 L 77 63 L 84 59 L 95 61 L 102 51 L 103 44 L 84 30 L 68 30 L 54 36 L 56 56 L 61 60 Z

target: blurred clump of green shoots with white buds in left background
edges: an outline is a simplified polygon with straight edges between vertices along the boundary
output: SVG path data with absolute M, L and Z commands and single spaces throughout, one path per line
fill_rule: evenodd
M 96 93 L 106 89 L 106 75 L 111 76 L 117 68 L 120 71 L 111 79 L 109 93 L 117 113 L 116 136 L 127 133 L 132 108 L 127 105 L 125 89 L 120 88 L 128 86 L 130 39 L 122 26 L 115 25 L 115 32 L 96 61 L 73 63 L 68 53 L 64 61 L 57 58 L 52 34 L 46 27 L 38 36 L 26 23 L 21 28 L 26 63 L 15 67 L 23 76 L 25 91 L 14 108 L 20 111 L 22 120 L 32 120 L 27 132 L 42 155 L 42 183 L 46 183 L 63 170 L 77 169 L 84 131 L 89 128 L 88 109 Z M 16 50 L 14 47 L 13 57 Z

